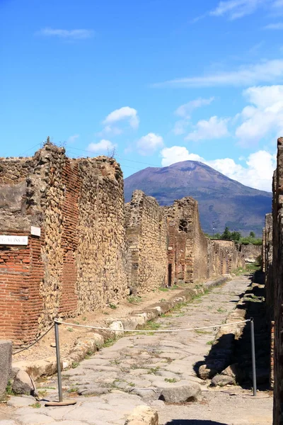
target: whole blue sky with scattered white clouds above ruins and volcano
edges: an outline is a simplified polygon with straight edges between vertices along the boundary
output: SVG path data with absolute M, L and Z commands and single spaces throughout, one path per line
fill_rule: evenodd
M 125 176 L 205 162 L 271 189 L 283 0 L 0 0 L 0 156 L 50 135 Z

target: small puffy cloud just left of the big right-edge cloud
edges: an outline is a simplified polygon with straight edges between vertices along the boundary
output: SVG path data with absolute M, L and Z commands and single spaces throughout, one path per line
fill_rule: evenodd
M 195 125 L 195 130 L 190 132 L 185 137 L 185 140 L 197 142 L 198 140 L 219 139 L 227 136 L 229 134 L 228 121 L 229 118 L 218 118 L 216 115 L 209 118 L 209 120 L 200 120 Z

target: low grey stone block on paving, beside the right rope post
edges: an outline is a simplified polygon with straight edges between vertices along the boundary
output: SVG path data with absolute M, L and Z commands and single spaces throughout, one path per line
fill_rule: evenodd
M 169 403 L 185 403 L 198 401 L 201 399 L 202 389 L 199 384 L 190 383 L 187 385 L 174 385 L 163 388 L 159 398 Z

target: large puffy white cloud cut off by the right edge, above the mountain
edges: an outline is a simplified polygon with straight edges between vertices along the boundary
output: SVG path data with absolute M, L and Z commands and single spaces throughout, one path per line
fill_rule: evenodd
M 283 132 L 283 86 L 257 86 L 243 91 L 250 105 L 240 114 L 241 125 L 236 128 L 236 137 L 241 145 L 256 143 L 275 132 Z

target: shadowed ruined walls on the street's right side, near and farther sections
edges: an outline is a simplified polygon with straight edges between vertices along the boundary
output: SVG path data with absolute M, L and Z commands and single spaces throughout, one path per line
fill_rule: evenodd
M 277 140 L 272 215 L 265 217 L 262 269 L 271 323 L 271 384 L 274 379 L 273 424 L 283 424 L 283 137 Z

